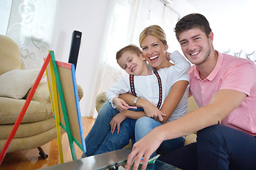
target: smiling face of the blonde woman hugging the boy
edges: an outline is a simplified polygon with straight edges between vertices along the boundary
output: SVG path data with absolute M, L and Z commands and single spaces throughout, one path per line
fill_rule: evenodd
M 164 62 L 167 61 L 167 49 L 168 45 L 164 45 L 164 43 L 154 35 L 146 35 L 142 40 L 142 54 L 155 70 L 165 67 Z

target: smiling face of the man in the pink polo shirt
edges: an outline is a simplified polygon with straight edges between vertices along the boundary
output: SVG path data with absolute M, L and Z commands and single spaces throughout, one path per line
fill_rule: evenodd
M 196 65 L 202 64 L 210 55 L 210 45 L 213 42 L 213 33 L 209 38 L 200 28 L 186 30 L 179 35 L 178 42 L 181 45 L 181 50 L 187 59 Z

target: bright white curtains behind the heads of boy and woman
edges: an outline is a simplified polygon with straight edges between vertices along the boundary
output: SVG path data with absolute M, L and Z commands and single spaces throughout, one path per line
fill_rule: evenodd
M 174 27 L 178 21 L 178 13 L 166 6 L 160 0 L 114 0 L 111 1 L 109 25 L 107 26 L 107 40 L 102 54 L 105 65 L 98 79 L 98 91 L 107 91 L 124 72 L 115 60 L 115 54 L 122 47 L 134 44 L 139 46 L 139 34 L 150 25 L 159 25 L 164 29 L 169 44 L 169 51 L 177 50 L 178 42 L 175 38 Z M 95 111 L 93 103 L 92 111 Z M 97 116 L 95 111 L 93 117 Z

